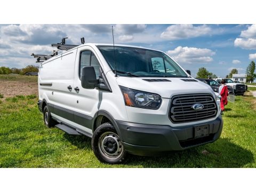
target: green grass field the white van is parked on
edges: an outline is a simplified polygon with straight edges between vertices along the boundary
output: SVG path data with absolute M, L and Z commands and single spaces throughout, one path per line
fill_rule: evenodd
M 130 155 L 126 164 L 109 165 L 94 156 L 90 138 L 48 129 L 36 95 L 16 96 L 0 105 L 0 167 L 256 167 L 253 101 L 237 96 L 228 103 L 214 143 L 159 157 Z

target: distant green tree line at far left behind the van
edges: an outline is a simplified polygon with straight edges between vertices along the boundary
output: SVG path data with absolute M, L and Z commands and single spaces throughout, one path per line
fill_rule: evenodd
M 29 65 L 25 68 L 18 69 L 18 68 L 9 68 L 9 67 L 0 67 L 0 74 L 19 74 L 19 75 L 25 75 L 27 72 L 38 72 L 39 67 Z

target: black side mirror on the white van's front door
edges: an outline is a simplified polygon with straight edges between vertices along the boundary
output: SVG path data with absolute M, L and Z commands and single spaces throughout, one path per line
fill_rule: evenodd
M 82 87 L 85 89 L 94 89 L 97 84 L 99 84 L 99 79 L 96 78 L 94 67 L 83 67 L 81 75 Z

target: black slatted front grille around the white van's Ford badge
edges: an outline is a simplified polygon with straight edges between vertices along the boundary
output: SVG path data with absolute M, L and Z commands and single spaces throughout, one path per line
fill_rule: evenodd
M 184 94 L 172 98 L 169 118 L 173 123 L 187 123 L 213 118 L 217 115 L 217 105 L 211 94 Z M 192 106 L 200 103 L 202 110 Z

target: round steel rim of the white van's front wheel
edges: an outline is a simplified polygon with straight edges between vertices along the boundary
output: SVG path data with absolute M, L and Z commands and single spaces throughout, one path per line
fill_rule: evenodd
M 101 155 L 109 160 L 118 159 L 123 153 L 123 145 L 114 132 L 105 132 L 100 135 L 98 147 Z

